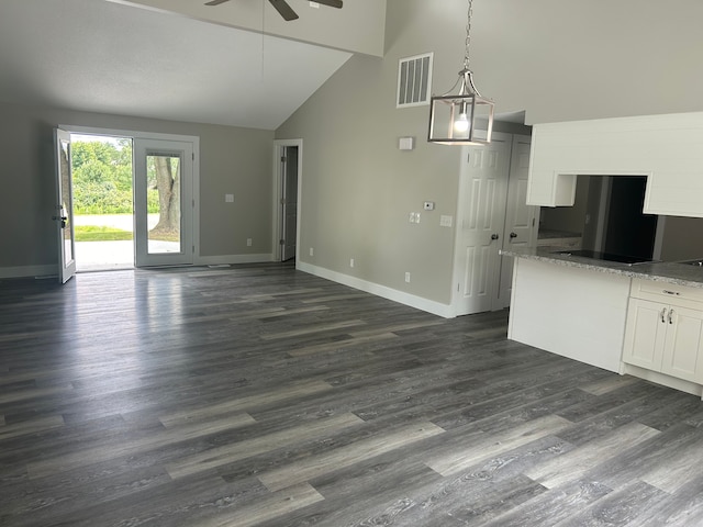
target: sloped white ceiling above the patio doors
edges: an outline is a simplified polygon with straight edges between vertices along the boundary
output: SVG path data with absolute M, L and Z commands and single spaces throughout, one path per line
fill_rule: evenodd
M 0 1 L 2 102 L 275 130 L 350 56 L 104 0 Z

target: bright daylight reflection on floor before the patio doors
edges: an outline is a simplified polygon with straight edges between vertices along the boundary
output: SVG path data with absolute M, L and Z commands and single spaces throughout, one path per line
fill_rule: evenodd
M 144 378 L 148 362 L 164 349 L 174 359 L 182 341 L 185 304 L 178 281 L 167 272 L 82 273 L 64 289 L 62 301 L 62 343 L 65 352 L 75 356 L 67 381 L 81 392 L 111 394 L 83 399 L 71 407 L 71 418 L 120 415 L 141 407 L 142 389 L 149 382 Z

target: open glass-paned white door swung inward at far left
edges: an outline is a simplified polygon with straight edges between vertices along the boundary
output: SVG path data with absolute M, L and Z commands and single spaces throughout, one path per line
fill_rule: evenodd
M 56 152 L 56 209 L 54 220 L 58 236 L 58 280 L 66 283 L 76 274 L 76 244 L 74 239 L 74 197 L 70 168 L 70 133 L 54 130 Z

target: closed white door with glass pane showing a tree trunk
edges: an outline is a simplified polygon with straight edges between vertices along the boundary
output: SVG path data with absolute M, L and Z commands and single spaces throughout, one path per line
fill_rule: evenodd
M 136 267 L 193 262 L 193 144 L 134 139 Z

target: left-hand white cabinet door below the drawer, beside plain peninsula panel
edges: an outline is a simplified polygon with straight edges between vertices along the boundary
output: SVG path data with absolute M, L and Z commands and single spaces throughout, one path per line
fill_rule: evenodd
M 623 362 L 661 371 L 668 313 L 667 304 L 629 300 Z

